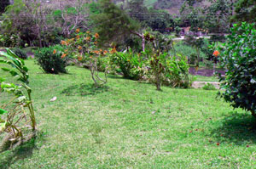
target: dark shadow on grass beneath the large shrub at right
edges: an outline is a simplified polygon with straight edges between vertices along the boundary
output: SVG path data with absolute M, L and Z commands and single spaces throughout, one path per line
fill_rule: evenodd
M 232 112 L 219 122 L 221 127 L 212 131 L 217 141 L 237 145 L 256 144 L 256 119 L 253 115 Z

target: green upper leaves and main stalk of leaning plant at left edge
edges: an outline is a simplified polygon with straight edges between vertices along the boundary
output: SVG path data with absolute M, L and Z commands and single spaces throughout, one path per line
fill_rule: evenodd
M 23 107 L 27 107 L 29 110 L 29 117 L 31 120 L 32 131 L 35 131 L 37 128 L 35 112 L 32 105 L 32 89 L 29 87 L 29 75 L 28 68 L 26 67 L 24 60 L 20 59 L 12 52 L 9 48 L 6 48 L 6 52 L 0 52 L 0 64 L 10 65 L 11 68 L 1 68 L 4 71 L 9 72 L 11 76 L 17 78 L 21 82 L 20 86 L 17 86 L 12 83 L 6 83 L 0 81 L 1 88 L 3 92 L 15 93 L 15 99 L 18 99 L 18 102 L 23 104 Z M 26 94 L 22 92 L 21 88 L 24 88 Z M 4 111 L 5 112 L 5 111 Z M 6 113 L 6 112 L 5 112 Z

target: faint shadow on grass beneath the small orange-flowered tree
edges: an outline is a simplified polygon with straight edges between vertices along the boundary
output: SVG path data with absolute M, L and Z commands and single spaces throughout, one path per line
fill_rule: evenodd
M 62 90 L 61 94 L 66 94 L 67 96 L 74 96 L 74 95 L 95 95 L 97 93 L 104 93 L 108 91 L 108 87 L 96 87 L 94 84 L 74 84 L 70 87 L 65 88 Z

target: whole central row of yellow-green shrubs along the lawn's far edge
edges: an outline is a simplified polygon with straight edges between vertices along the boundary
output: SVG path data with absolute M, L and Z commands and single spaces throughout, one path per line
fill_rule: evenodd
M 131 49 L 110 54 L 110 63 L 116 73 L 125 78 L 151 82 L 160 90 L 161 85 L 189 87 L 189 65 L 183 55 L 143 52 L 137 54 Z

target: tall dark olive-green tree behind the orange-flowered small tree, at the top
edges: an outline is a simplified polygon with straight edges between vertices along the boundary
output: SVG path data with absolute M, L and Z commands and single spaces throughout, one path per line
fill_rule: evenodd
M 91 19 L 95 25 L 95 31 L 100 35 L 100 45 L 122 42 L 125 37 L 131 35 L 131 31 L 136 31 L 139 28 L 137 22 L 131 20 L 111 0 L 101 0 L 99 2 L 99 9 L 100 14 L 92 14 Z

